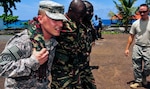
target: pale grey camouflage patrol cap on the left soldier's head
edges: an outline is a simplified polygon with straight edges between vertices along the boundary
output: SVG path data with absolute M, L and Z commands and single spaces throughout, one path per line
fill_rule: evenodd
M 54 20 L 67 20 L 64 16 L 64 6 L 49 0 L 43 0 L 39 3 L 39 8 L 45 10 L 46 15 Z

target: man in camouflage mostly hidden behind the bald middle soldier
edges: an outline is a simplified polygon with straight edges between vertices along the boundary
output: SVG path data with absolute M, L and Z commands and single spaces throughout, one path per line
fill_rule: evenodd
M 91 71 L 92 67 L 90 66 L 90 54 L 92 51 L 92 46 L 95 44 L 95 39 L 96 39 L 95 29 L 91 22 L 94 8 L 93 8 L 92 3 L 90 3 L 89 1 L 83 0 L 83 2 L 86 6 L 86 15 L 83 18 L 82 25 L 86 29 L 85 31 L 86 38 L 84 39 L 85 41 L 82 44 L 85 44 L 86 46 L 85 48 L 83 48 L 84 50 L 82 50 L 82 56 L 80 57 L 81 57 L 81 60 L 84 60 L 83 64 L 86 64 L 86 65 L 84 65 L 83 69 L 81 70 L 80 75 L 81 75 L 82 85 L 85 85 L 83 89 L 96 89 L 95 79 Z

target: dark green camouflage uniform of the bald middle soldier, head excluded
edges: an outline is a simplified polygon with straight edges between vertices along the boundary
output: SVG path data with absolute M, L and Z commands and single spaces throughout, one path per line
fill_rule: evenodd
M 84 89 L 81 88 L 84 81 L 81 76 L 85 76 L 83 70 L 90 70 L 86 27 L 83 24 L 76 25 L 69 19 L 64 22 L 63 30 L 56 40 L 58 45 L 52 65 L 52 89 Z

